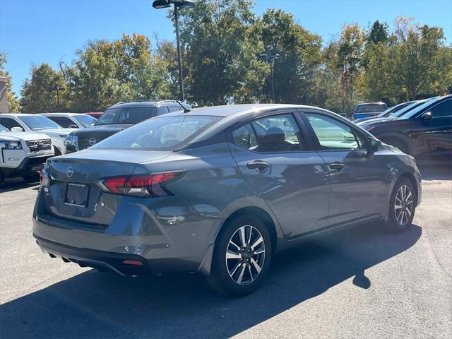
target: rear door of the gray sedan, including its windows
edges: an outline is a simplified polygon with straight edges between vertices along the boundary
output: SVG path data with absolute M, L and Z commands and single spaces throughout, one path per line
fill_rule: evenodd
M 230 131 L 234 160 L 287 238 L 326 227 L 328 218 L 328 169 L 302 131 L 291 111 L 272 112 Z

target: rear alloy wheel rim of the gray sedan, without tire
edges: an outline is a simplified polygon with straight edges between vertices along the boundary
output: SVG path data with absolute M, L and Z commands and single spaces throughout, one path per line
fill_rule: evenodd
M 266 246 L 256 227 L 244 225 L 232 234 L 227 245 L 226 268 L 238 285 L 252 283 L 261 273 Z

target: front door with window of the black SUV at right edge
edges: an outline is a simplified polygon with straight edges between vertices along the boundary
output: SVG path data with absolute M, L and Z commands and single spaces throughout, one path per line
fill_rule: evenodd
M 410 139 L 414 155 L 451 155 L 452 153 L 452 99 L 439 102 L 412 119 Z

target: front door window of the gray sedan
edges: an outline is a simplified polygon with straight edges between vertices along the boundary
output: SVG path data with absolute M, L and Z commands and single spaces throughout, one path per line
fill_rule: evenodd
M 321 114 L 304 114 L 319 139 L 322 150 L 357 150 L 365 148 L 365 139 L 349 126 Z

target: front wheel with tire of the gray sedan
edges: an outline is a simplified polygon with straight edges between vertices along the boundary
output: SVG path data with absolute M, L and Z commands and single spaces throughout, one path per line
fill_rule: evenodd
M 405 203 L 403 196 L 405 196 Z M 405 177 L 398 179 L 389 202 L 388 222 L 386 222 L 388 231 L 398 233 L 408 230 L 412 219 L 415 218 L 416 200 L 416 191 L 412 182 Z

